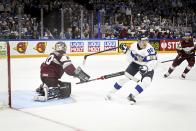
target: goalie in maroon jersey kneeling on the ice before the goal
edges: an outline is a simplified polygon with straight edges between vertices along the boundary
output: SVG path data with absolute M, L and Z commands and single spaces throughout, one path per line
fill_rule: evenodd
M 79 78 L 81 82 L 90 78 L 80 67 L 75 68 L 69 57 L 65 55 L 66 49 L 64 42 L 57 42 L 55 51 L 50 53 L 45 62 L 41 64 L 40 77 L 43 83 L 36 89 L 38 95 L 35 96 L 35 101 L 69 97 L 71 94 L 71 83 L 59 80 L 64 72 Z

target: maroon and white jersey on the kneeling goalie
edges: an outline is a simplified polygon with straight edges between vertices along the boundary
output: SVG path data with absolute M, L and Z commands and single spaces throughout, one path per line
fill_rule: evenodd
M 64 56 L 64 52 L 62 51 L 54 51 L 50 53 L 45 62 L 41 64 L 41 77 L 55 77 L 61 78 L 63 73 L 66 72 L 67 67 L 73 64 L 68 56 Z M 70 71 L 74 72 L 74 69 Z

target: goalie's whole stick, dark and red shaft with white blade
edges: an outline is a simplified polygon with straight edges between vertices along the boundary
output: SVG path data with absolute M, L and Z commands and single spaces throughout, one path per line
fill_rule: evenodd
M 95 78 L 95 79 L 91 79 L 85 82 L 78 82 L 76 84 L 83 84 L 83 83 L 87 83 L 87 82 L 91 82 L 91 81 L 95 81 L 95 80 L 105 80 L 105 79 L 109 79 L 109 78 L 113 78 L 113 77 L 117 77 L 117 76 L 122 76 L 125 75 L 126 77 L 128 77 L 130 80 L 133 80 L 135 82 L 139 82 L 140 80 L 138 80 L 137 78 L 135 78 L 134 76 L 130 75 L 127 72 L 124 71 L 120 71 L 120 72 L 116 72 L 116 73 L 112 73 L 112 74 L 108 74 L 108 75 L 103 75 L 101 77 Z

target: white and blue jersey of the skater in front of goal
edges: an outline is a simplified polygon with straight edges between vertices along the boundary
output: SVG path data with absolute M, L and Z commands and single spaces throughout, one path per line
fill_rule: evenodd
M 128 61 L 135 62 L 139 65 L 147 65 L 150 70 L 153 70 L 157 64 L 157 54 L 155 49 L 147 43 L 144 49 L 141 49 L 138 43 L 133 43 L 126 52 Z

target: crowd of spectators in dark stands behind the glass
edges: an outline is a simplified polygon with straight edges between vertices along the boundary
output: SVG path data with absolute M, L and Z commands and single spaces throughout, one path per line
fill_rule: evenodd
M 195 6 L 195 0 L 91 0 L 88 5 L 76 0 L 0 0 L 0 39 L 181 38 L 196 32 Z

